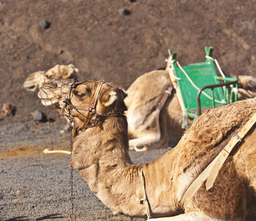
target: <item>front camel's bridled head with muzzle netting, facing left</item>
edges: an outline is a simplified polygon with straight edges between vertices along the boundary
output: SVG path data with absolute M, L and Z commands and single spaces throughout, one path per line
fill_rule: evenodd
M 38 97 L 43 105 L 53 111 L 66 118 L 72 116 L 76 130 L 82 129 L 87 119 L 92 119 L 92 124 L 97 117 L 127 111 L 124 104 L 127 94 L 115 85 L 103 81 L 50 80 L 41 86 Z

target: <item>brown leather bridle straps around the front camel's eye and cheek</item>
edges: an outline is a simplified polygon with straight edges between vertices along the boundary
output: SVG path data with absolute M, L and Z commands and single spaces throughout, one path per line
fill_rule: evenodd
M 94 95 L 93 95 L 93 97 L 92 97 L 92 102 L 91 102 L 91 104 L 90 104 L 90 107 L 89 107 L 87 110 L 86 110 L 86 109 L 82 109 L 82 108 L 76 108 L 76 107 L 72 104 L 72 102 L 71 102 L 72 91 L 73 91 L 73 89 L 75 89 L 78 85 L 81 85 L 81 84 L 86 83 L 86 82 L 93 82 L 93 81 L 91 81 L 91 80 L 84 80 L 84 81 L 81 81 L 81 82 L 77 82 L 76 80 L 74 80 L 73 83 L 70 83 L 70 84 L 68 85 L 69 91 L 67 92 L 67 97 L 66 97 L 66 99 L 64 100 L 64 103 L 65 103 L 64 109 L 65 109 L 65 108 L 67 109 L 67 111 L 68 111 L 68 113 L 69 113 L 69 118 L 72 117 L 72 116 L 71 116 L 71 113 L 70 113 L 71 110 L 75 110 L 76 112 L 78 112 L 79 114 L 81 114 L 82 116 L 85 117 L 84 124 L 83 124 L 83 126 L 81 127 L 81 130 L 82 130 L 82 131 L 85 131 L 87 128 L 89 128 L 89 127 L 88 127 L 88 124 L 89 124 L 89 122 L 90 122 L 90 120 L 92 119 L 93 116 L 95 116 L 95 119 L 94 119 L 94 121 L 92 122 L 92 125 L 91 125 L 90 127 L 93 127 L 93 126 L 95 126 L 96 124 L 98 124 L 99 119 L 100 119 L 101 116 L 117 116 L 117 115 L 120 116 L 120 115 L 123 115 L 123 114 L 124 114 L 124 113 L 119 113 L 119 112 L 117 111 L 118 100 L 115 102 L 115 108 L 114 108 L 114 110 L 110 111 L 109 113 L 105 113 L 105 114 L 101 115 L 101 114 L 98 114 L 98 113 L 96 112 L 96 105 L 97 105 L 97 102 L 98 102 L 98 96 L 99 96 L 99 94 L 100 94 L 100 92 L 101 92 L 102 85 L 107 84 L 107 83 L 105 83 L 103 80 L 98 81 L 98 85 L 97 85 L 97 88 L 96 88 L 96 90 L 95 90 L 95 93 L 94 93 Z M 107 84 L 107 85 L 110 85 L 110 84 Z M 110 85 L 110 86 L 112 86 L 112 85 Z M 112 86 L 112 87 L 113 87 L 113 86 Z M 117 91 L 117 93 L 118 93 L 118 91 Z M 87 111 L 87 114 L 84 115 L 83 113 L 81 113 L 81 111 Z M 63 113 L 63 115 L 64 115 L 64 113 Z

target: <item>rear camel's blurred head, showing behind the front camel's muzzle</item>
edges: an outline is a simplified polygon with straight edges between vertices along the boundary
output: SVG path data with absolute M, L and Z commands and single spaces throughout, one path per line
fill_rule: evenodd
M 78 78 L 78 69 L 73 64 L 68 66 L 56 65 L 48 71 L 36 71 L 30 74 L 24 81 L 23 87 L 27 91 L 36 91 L 41 85 L 51 79 Z

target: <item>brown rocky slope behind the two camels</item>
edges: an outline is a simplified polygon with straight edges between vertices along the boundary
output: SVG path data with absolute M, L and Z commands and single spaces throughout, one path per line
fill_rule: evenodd
M 44 111 L 36 93 L 22 88 L 28 74 L 73 63 L 80 80 L 127 89 L 141 74 L 165 67 L 168 49 L 184 65 L 204 61 L 203 47 L 213 46 L 223 71 L 256 77 L 255 12 L 252 0 L 3 0 L 1 102 L 16 106 L 15 121 L 27 122 L 34 108 Z

